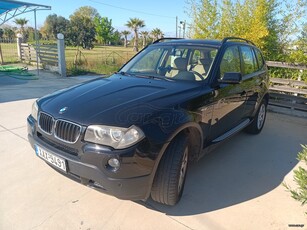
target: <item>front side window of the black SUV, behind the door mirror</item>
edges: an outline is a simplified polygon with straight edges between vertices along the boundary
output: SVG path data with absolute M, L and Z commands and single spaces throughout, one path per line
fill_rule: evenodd
M 229 72 L 241 72 L 240 53 L 237 46 L 227 48 L 221 61 L 220 78 L 222 79 L 224 74 Z

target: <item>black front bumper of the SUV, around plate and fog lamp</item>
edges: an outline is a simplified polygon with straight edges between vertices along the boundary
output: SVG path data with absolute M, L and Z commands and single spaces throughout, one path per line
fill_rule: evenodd
M 154 175 L 155 160 L 152 155 L 146 156 L 136 147 L 115 151 L 83 143 L 82 149 L 79 149 L 81 153 L 74 156 L 40 138 L 37 124 L 31 116 L 27 122 L 28 139 L 32 148 L 35 149 L 35 145 L 38 145 L 49 153 L 63 158 L 66 161 L 67 173 L 49 164 L 63 175 L 119 199 L 146 200 L 149 197 Z M 122 163 L 118 172 L 106 167 L 106 162 L 111 157 L 120 159 Z

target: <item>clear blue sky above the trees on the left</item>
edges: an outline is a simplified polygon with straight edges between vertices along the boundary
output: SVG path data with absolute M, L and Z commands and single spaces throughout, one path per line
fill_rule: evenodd
M 51 10 L 37 12 L 37 25 L 42 26 L 46 16 L 49 14 L 61 15 L 69 18 L 76 9 L 81 6 L 92 6 L 96 8 L 103 17 L 112 19 L 115 29 L 122 31 L 125 23 L 131 17 L 138 17 L 145 21 L 146 27 L 143 30 L 152 30 L 160 28 L 166 36 L 175 36 L 176 34 L 176 16 L 179 21 L 188 20 L 185 13 L 187 4 L 186 0 L 25 0 L 26 2 L 37 3 L 51 6 Z M 131 10 L 125 10 L 125 9 Z M 28 25 L 34 27 L 33 13 L 27 13 L 18 18 L 27 18 Z M 12 20 L 8 23 L 13 25 Z

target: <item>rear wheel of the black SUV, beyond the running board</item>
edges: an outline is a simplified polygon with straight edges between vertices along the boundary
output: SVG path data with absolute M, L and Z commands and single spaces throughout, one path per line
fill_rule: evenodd
M 266 100 L 263 100 L 259 106 L 259 109 L 254 117 L 253 122 L 246 127 L 245 131 L 250 134 L 260 133 L 265 123 L 266 113 L 267 102 Z

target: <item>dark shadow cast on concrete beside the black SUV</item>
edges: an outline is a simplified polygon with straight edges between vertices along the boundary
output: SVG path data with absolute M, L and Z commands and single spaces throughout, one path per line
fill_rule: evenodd
M 274 122 L 273 120 L 270 122 Z M 189 167 L 181 201 L 173 207 L 143 203 L 167 215 L 211 212 L 257 198 L 280 185 L 298 163 L 299 138 L 266 126 L 257 136 L 244 132 Z

